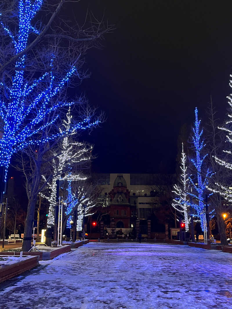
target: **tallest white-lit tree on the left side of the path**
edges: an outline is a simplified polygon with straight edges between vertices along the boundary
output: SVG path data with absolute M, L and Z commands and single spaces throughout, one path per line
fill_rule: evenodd
M 64 128 L 68 131 L 71 128 L 72 115 L 70 108 L 67 112 L 67 120 L 64 120 Z M 60 129 L 61 131 L 61 129 Z M 71 134 L 75 134 L 75 131 Z M 49 201 L 49 212 L 47 218 L 47 226 L 54 225 L 54 207 L 56 206 L 56 181 L 68 180 L 68 192 L 71 192 L 71 182 L 78 180 L 86 180 L 87 177 L 79 173 L 72 173 L 72 167 L 78 165 L 79 169 L 83 167 L 83 164 L 89 162 L 92 159 L 92 145 L 84 142 L 75 142 L 71 136 L 66 136 L 61 142 L 60 153 L 54 152 L 54 159 L 52 160 L 52 174 L 54 175 L 51 182 L 47 182 L 45 176 L 43 179 L 47 182 L 47 194 L 40 193 L 42 197 Z M 70 199 L 71 197 L 69 197 Z M 71 201 L 70 201 L 71 203 Z

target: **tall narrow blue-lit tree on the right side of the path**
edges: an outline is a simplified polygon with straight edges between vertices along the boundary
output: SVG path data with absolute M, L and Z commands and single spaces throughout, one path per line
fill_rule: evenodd
M 200 224 L 202 231 L 206 230 L 206 216 L 205 216 L 205 197 L 208 196 L 208 181 L 212 177 L 213 172 L 209 168 L 205 167 L 205 158 L 208 154 L 204 153 L 204 139 L 203 139 L 203 129 L 200 129 L 200 120 L 198 120 L 198 110 L 195 108 L 195 124 L 193 127 L 192 141 L 194 145 L 195 156 L 191 159 L 193 163 L 196 174 L 195 178 L 193 176 L 189 177 L 192 192 L 189 193 L 190 196 L 196 201 L 191 204 L 191 206 L 196 210 L 197 216 L 200 218 Z M 189 204 L 190 205 L 190 204 Z

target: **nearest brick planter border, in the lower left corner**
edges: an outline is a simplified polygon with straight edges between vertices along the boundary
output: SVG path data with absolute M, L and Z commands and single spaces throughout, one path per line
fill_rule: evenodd
M 25 256 L 23 256 L 25 258 Z M 20 258 L 19 258 L 20 259 Z M 24 273 L 26 270 L 32 269 L 39 265 L 38 256 L 26 256 L 25 259 L 11 265 L 0 267 L 0 282 L 6 281 L 12 277 Z

